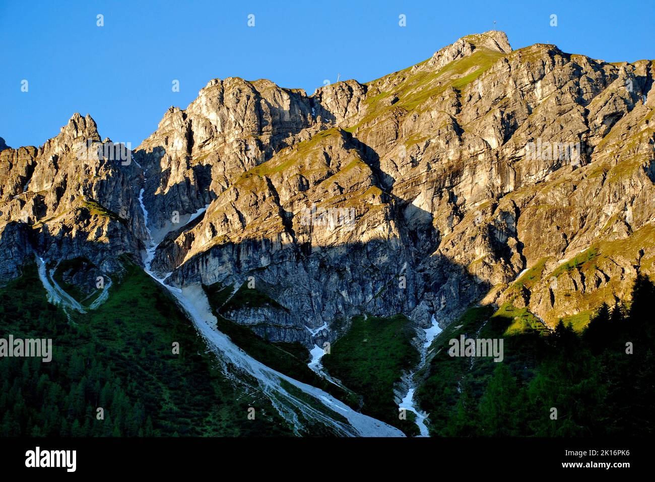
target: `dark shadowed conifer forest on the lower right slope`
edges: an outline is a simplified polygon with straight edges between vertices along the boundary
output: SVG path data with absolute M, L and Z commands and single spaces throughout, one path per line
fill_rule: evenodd
M 507 336 L 514 319 L 469 310 L 453 325 L 481 338 L 504 338 L 505 359 L 454 358 L 448 329 L 419 390 L 430 432 L 441 436 L 646 436 L 655 430 L 652 281 L 638 275 L 631 300 L 600 306 L 578 334 L 562 321 L 554 331 Z M 557 410 L 556 418 L 553 417 Z

